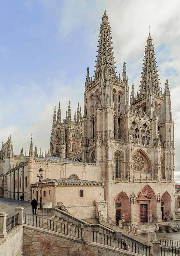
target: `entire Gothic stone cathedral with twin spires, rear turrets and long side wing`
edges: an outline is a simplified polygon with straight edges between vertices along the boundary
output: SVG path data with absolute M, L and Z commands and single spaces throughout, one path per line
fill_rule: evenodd
M 18 194 L 12 191 L 12 188 L 15 191 L 16 187 L 12 172 L 20 177 L 17 170 L 24 168 L 22 170 L 25 172 L 25 163 L 27 163 L 29 164 L 27 175 L 23 174 L 22 178 L 26 190 L 20 192 L 27 193 L 26 198 L 30 200 L 28 188 L 30 189 L 32 183 L 37 182 L 34 179 L 37 171 L 35 172 L 33 164 L 35 166 L 41 163 L 45 166 L 49 163 L 48 169 L 45 167 L 49 179 L 72 178 L 73 175 L 75 179 L 101 182 L 104 199 L 102 200 L 101 193 L 101 196 L 94 194 L 93 200 L 96 202 L 99 200 L 105 205 L 106 210 L 101 211 L 104 217 L 118 221 L 124 216 L 126 223 L 136 225 L 153 223 L 157 212 L 158 221 L 162 221 L 169 216 L 169 210 L 174 216 L 176 206 L 174 119 L 168 80 L 162 91 L 153 39 L 149 34 L 145 46 L 140 90 L 135 94 L 132 84 L 130 94 L 125 62 L 122 79 L 120 74 L 119 76 L 116 74 L 108 19 L 108 15 L 104 12 L 93 78 L 90 77 L 90 70 L 87 68 L 83 117 L 78 104 L 72 121 L 69 102 L 66 119 L 61 121 L 59 104 L 57 115 L 54 109 L 47 157 L 34 156 L 31 144 L 29 157 L 21 161 L 20 167 L 18 167 L 19 163 L 16 167 L 14 165 L 13 169 L 11 169 L 12 164 L 10 167 L 10 163 L 15 159 L 12 143 L 8 142 L 10 148 L 7 149 L 4 149 L 3 145 L 0 164 L 4 180 L 2 178 L 1 187 L 4 186 L 4 190 L 7 191 L 4 192 L 5 197 L 13 195 L 11 198 L 18 198 Z M 21 158 L 16 156 L 16 159 Z M 72 161 L 70 159 L 74 159 L 74 162 L 69 162 L 71 168 L 67 171 L 65 166 L 68 165 L 68 161 Z M 53 165 L 52 171 L 51 165 Z M 79 167 L 75 168 L 78 165 Z M 66 200 L 63 204 L 67 206 L 68 197 Z M 76 198 L 74 200 L 76 201 Z M 93 208 L 94 217 L 98 212 L 97 203 L 96 207 Z M 78 211 L 81 209 L 79 208 Z

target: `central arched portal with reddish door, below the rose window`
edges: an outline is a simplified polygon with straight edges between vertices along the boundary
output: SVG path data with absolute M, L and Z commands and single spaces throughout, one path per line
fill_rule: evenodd
M 138 223 L 152 222 L 157 210 L 156 196 L 151 187 L 146 185 L 137 196 Z

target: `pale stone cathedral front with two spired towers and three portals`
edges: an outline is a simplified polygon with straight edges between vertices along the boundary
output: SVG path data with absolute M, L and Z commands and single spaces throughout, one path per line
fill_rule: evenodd
M 174 212 L 174 120 L 168 80 L 160 88 L 148 36 L 140 92 L 129 95 L 126 65 L 116 75 L 106 12 L 100 27 L 94 79 L 89 68 L 82 118 L 82 161 L 97 162 L 108 216 L 152 222 Z M 129 102 L 130 98 L 130 102 Z M 172 196 L 172 197 L 171 197 Z

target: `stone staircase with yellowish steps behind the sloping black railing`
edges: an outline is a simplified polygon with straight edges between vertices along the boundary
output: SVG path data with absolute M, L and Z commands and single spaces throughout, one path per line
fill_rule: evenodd
M 40 228 L 49 229 L 69 236 L 83 237 L 84 230 L 67 220 L 60 219 L 55 215 L 45 215 L 42 217 L 34 216 L 34 218 L 35 217 L 37 217 L 37 222 L 39 222 L 38 227 Z

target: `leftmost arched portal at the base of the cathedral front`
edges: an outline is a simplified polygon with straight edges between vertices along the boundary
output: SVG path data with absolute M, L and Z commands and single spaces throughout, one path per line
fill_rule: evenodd
M 125 222 L 131 222 L 131 204 L 129 198 L 124 192 L 120 192 L 115 199 L 115 220 L 122 220 L 124 212 Z

